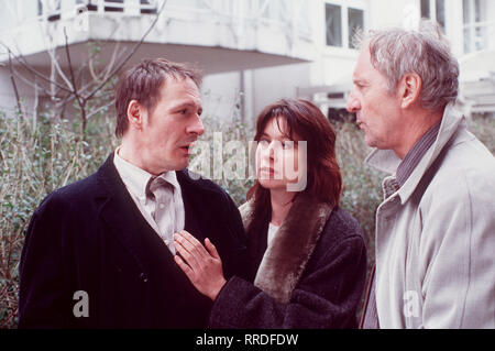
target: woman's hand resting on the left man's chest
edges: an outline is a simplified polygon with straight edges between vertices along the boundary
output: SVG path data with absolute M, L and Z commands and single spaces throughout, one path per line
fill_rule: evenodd
M 227 281 L 222 261 L 211 241 L 205 239 L 205 249 L 195 237 L 182 230 L 174 234 L 174 246 L 178 253 L 174 256 L 178 266 L 202 295 L 215 300 Z

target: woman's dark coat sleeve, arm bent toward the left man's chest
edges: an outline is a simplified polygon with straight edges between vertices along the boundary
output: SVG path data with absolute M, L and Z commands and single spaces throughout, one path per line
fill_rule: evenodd
M 332 227 L 332 226 L 330 226 Z M 359 227 L 328 228 L 288 304 L 240 277 L 232 277 L 215 300 L 210 328 L 354 328 L 366 273 Z M 323 237 L 323 234 L 322 234 Z M 334 242 L 334 239 L 345 239 Z M 332 242 L 333 241 L 333 242 Z

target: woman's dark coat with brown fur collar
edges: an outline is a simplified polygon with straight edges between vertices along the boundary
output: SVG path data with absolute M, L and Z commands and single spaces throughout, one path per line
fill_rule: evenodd
M 251 278 L 228 281 L 210 328 L 358 327 L 366 249 L 354 218 L 301 194 L 267 245 L 271 213 L 255 215 L 252 201 L 241 213 Z

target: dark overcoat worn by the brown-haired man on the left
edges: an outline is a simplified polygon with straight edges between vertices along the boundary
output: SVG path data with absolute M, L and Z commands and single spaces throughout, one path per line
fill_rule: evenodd
M 227 276 L 243 275 L 244 231 L 231 198 L 187 171 L 177 179 L 185 229 L 216 244 Z M 113 153 L 97 173 L 43 200 L 26 232 L 20 277 L 20 328 L 202 328 L 211 308 L 139 211 Z M 88 317 L 80 316 L 80 290 Z

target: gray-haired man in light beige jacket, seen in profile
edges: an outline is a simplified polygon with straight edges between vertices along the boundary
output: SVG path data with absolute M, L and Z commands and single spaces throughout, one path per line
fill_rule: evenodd
M 392 174 L 363 327 L 495 328 L 495 160 L 453 108 L 458 62 L 428 23 L 361 47 L 348 110 Z

